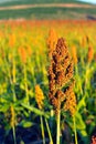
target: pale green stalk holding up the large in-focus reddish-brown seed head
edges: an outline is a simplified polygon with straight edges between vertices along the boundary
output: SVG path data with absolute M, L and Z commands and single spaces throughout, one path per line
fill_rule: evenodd
M 61 135 L 60 122 L 61 122 L 61 110 L 57 111 L 56 144 L 60 144 L 60 135 Z

